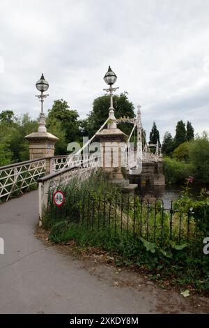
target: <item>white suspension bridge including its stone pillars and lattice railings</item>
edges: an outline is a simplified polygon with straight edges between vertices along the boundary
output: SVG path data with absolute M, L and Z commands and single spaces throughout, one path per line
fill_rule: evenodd
M 116 128 L 118 123 L 130 123 L 133 125 L 129 136 L 126 136 Z M 38 133 L 42 134 L 42 132 Z M 31 133 L 31 135 L 32 137 L 35 135 L 36 140 L 38 140 L 38 133 Z M 46 131 L 44 133 L 48 134 Z M 134 133 L 135 135 L 137 134 L 137 142 L 135 142 L 137 147 L 133 147 L 132 151 L 130 151 L 130 140 Z M 26 136 L 26 138 L 31 140 L 31 135 Z M 101 141 L 100 149 L 95 152 L 87 151 L 86 154 L 86 148 L 91 148 L 94 140 L 98 138 Z M 121 140 L 123 141 L 122 144 Z M 38 141 L 40 142 L 40 140 Z M 104 141 L 110 142 L 106 148 L 102 147 Z M 0 200 L 8 201 L 15 195 L 20 195 L 31 188 L 36 188 L 38 184 L 40 219 L 42 218 L 42 209 L 47 204 L 49 188 L 64 186 L 74 177 L 88 179 L 90 174 L 98 170 L 98 167 L 102 167 L 107 172 L 109 170 L 112 173 L 116 172 L 115 174 L 113 173 L 111 179 L 114 181 L 114 175 L 116 175 L 116 183 L 121 184 L 123 187 L 129 186 L 130 181 L 137 181 L 137 184 L 140 184 L 141 181 L 145 181 L 145 183 L 150 185 L 164 184 L 159 144 L 149 145 L 146 142 L 143 144 L 140 106 L 138 107 L 137 117 L 132 119 L 128 117 L 116 119 L 114 113 L 110 112 L 109 117 L 104 121 L 97 133 L 75 154 L 34 158 L 40 156 L 39 154 L 37 155 L 37 146 L 39 148 L 42 147 L 36 143 L 36 147 L 32 148 L 31 154 L 33 159 L 0 167 Z M 155 154 L 150 151 L 150 147 L 155 147 Z M 36 151 L 35 156 L 33 153 L 34 149 Z M 114 153 L 119 158 L 119 163 L 116 161 L 116 165 L 113 163 Z M 139 170 L 140 165 L 141 169 Z M 124 174 L 121 174 L 121 167 L 125 168 L 125 178 Z

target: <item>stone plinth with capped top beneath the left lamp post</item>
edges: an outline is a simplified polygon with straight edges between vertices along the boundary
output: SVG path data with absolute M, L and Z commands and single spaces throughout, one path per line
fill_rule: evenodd
M 30 160 L 54 156 L 54 144 L 58 137 L 49 132 L 33 132 L 25 136 L 29 141 Z

